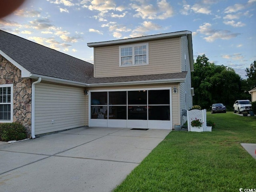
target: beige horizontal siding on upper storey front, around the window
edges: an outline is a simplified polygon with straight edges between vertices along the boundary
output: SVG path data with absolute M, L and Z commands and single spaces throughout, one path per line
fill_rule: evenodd
M 180 38 L 149 41 L 149 64 L 143 66 L 120 67 L 119 46 L 120 45 L 94 48 L 95 77 L 180 72 Z

